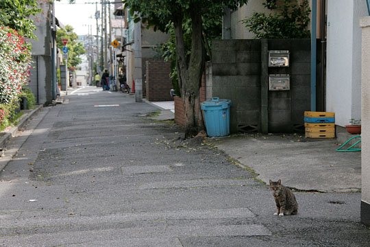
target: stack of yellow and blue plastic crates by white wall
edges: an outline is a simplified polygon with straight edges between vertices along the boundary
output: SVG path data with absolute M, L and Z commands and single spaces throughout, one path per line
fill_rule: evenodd
M 334 138 L 334 113 L 304 112 L 304 127 L 306 138 Z

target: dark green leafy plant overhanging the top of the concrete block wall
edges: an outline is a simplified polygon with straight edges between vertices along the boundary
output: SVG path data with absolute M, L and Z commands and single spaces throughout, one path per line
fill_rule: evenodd
M 310 6 L 308 0 L 284 0 L 277 4 L 274 0 L 263 3 L 270 14 L 254 13 L 243 23 L 256 38 L 310 38 Z

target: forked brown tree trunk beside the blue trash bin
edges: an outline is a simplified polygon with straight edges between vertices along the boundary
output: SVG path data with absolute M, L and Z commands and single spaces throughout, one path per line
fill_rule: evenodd
M 202 22 L 199 8 L 195 5 L 190 5 L 190 8 L 192 9 L 190 18 L 193 30 L 190 58 L 186 58 L 185 54 L 182 20 L 175 23 L 177 72 L 179 72 L 179 86 L 184 100 L 186 138 L 193 137 L 200 130 L 204 130 L 199 103 L 199 88 L 204 70 Z

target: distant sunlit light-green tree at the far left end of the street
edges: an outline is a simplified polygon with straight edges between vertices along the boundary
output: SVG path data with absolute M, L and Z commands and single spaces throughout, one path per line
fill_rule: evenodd
M 64 44 L 62 43 L 62 38 L 68 38 L 68 43 L 66 47 L 68 48 L 68 67 L 74 69 L 82 62 L 79 57 L 86 53 L 84 45 L 78 41 L 78 36 L 73 32 L 73 27 L 71 25 L 66 25 L 65 29 L 57 30 L 57 47 L 62 50 Z

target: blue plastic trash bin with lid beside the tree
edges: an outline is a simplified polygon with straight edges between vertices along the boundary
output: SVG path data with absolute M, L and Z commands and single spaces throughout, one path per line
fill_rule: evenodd
M 230 134 L 230 99 L 212 99 L 201 103 L 208 137 L 225 137 Z

